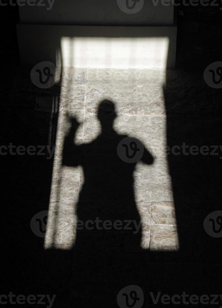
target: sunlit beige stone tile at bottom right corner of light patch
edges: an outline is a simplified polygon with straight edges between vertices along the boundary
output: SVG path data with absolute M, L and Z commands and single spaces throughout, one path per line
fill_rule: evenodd
M 150 226 L 150 250 L 175 251 L 179 249 L 176 225 Z

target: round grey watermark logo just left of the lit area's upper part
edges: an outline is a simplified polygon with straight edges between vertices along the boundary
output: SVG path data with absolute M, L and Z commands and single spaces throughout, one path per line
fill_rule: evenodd
M 51 88 L 55 83 L 56 66 L 54 63 L 44 61 L 36 64 L 30 73 L 31 81 L 41 89 Z

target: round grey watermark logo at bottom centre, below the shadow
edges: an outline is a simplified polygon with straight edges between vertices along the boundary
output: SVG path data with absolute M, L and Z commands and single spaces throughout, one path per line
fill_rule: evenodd
M 119 291 L 117 304 L 120 308 L 141 308 L 143 306 L 143 290 L 137 285 L 130 285 Z

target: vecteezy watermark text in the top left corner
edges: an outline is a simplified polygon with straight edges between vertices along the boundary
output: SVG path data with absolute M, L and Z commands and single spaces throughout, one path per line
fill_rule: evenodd
M 28 6 L 44 6 L 46 7 L 46 10 L 49 11 L 51 10 L 53 4 L 54 4 L 55 0 L 0 0 L 0 6 L 6 6 L 6 5 L 10 5 L 10 6 L 24 6 L 24 5 L 28 5 Z

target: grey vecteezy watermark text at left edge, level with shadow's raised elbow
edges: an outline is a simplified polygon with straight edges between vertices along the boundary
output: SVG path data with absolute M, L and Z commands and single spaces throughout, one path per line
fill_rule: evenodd
M 55 151 L 55 146 L 15 146 L 11 142 L 8 146 L 0 146 L 0 155 L 45 155 L 46 159 L 51 159 Z

